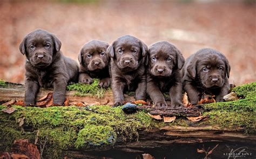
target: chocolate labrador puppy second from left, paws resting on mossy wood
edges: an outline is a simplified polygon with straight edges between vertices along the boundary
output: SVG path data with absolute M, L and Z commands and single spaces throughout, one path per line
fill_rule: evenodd
M 104 41 L 92 40 L 87 42 L 78 55 L 79 82 L 92 83 L 92 78 L 99 78 L 99 85 L 106 88 L 110 85 L 109 62 L 106 52 L 107 44 Z

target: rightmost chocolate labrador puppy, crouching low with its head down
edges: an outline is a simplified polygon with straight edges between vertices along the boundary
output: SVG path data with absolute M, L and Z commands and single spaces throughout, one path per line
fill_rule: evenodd
M 183 88 L 190 103 L 196 105 L 203 93 L 215 95 L 216 102 L 230 90 L 230 64 L 217 50 L 205 48 L 187 58 L 183 73 Z

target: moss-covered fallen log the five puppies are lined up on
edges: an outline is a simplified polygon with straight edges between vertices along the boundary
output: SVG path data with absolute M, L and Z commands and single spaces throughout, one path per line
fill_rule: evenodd
M 1 87 L 1 100 L 23 99 L 23 85 L 12 87 Z M 6 90 L 12 92 L 8 93 Z M 105 93 L 109 91 L 106 90 Z M 100 152 L 111 150 L 146 153 L 149 149 L 163 146 L 191 146 L 195 143 L 209 142 L 247 145 L 248 151 L 254 152 L 256 82 L 237 86 L 233 91 L 241 99 L 204 105 L 205 111 L 202 115 L 209 118 L 200 122 L 192 122 L 177 116 L 174 122 L 164 123 L 163 120 L 151 118 L 145 110 L 125 114 L 122 107 L 113 108 L 110 105 L 46 108 L 13 106 L 16 110 L 11 114 L 2 112 L 6 106 L 0 105 L 0 151 L 10 150 L 15 139 L 28 139 L 31 143 L 37 141 L 38 149 L 43 151 L 46 158 L 85 158 L 90 154 L 100 156 Z M 42 90 L 39 97 L 47 93 L 48 90 Z M 68 98 L 75 102 L 88 101 L 87 98 L 91 98 L 92 103 L 95 103 L 95 99 L 98 98 L 76 97 L 75 92 L 72 95 L 69 93 L 67 92 Z M 112 101 L 112 96 L 104 99 Z M 129 97 L 126 100 L 134 99 Z M 216 150 L 221 148 L 223 147 Z M 96 150 L 97 153 L 93 154 Z

